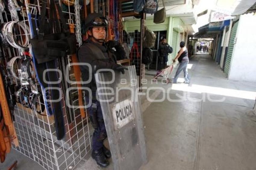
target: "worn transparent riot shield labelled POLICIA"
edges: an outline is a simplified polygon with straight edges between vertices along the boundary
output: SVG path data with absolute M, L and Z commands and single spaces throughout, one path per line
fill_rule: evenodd
M 115 170 L 136 170 L 147 161 L 136 69 L 127 68 L 95 74 Z

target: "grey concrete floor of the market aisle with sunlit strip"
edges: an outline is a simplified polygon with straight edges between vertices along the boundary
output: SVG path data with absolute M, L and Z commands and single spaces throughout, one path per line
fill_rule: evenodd
M 227 80 L 203 54 L 190 59 L 189 74 L 189 85 L 161 84 L 161 78 L 152 84 L 153 77 L 146 76 L 145 87 L 158 87 L 149 91 L 151 99 L 169 96 L 172 101 L 151 103 L 141 96 L 148 163 L 140 170 L 255 170 L 256 119 L 250 111 L 256 84 Z M 182 77 L 183 73 L 178 81 L 183 82 Z M 0 169 L 13 158 L 18 159 L 17 169 L 42 169 L 15 150 Z M 88 157 L 77 169 L 101 168 Z M 113 169 L 113 164 L 105 169 Z

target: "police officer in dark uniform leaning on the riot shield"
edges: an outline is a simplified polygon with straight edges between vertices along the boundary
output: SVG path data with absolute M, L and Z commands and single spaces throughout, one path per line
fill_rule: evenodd
M 105 44 L 107 28 L 108 21 L 105 17 L 97 13 L 89 14 L 85 20 L 88 39 L 77 52 L 79 61 L 81 63 L 89 63 L 92 68 L 92 71 L 89 72 L 90 69 L 88 66 L 80 66 L 83 81 L 89 80 L 90 76 L 92 77 L 92 81 L 83 84 L 83 86 L 89 87 L 92 91 L 92 96 L 89 96 L 89 93 L 86 91 L 86 103 L 89 103 L 89 99 L 92 99 L 92 105 L 87 108 L 87 111 L 89 111 L 89 117 L 95 129 L 92 136 L 92 158 L 101 167 L 109 165 L 107 158 L 111 157 L 111 152 L 103 145 L 104 139 L 107 138 L 107 132 L 100 102 L 96 99 L 97 87 L 94 74 L 98 69 L 102 68 L 118 70 L 122 73 L 126 69 L 117 64 L 115 54 Z

